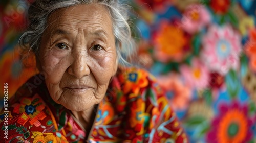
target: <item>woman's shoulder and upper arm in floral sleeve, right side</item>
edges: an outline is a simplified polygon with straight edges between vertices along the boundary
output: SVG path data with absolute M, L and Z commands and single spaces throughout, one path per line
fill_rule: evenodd
M 120 81 L 119 99 L 124 99 L 125 107 L 121 108 L 123 102 L 116 104 L 120 105 L 117 109 L 124 109 L 126 113 L 124 123 L 128 124 L 124 129 L 128 139 L 159 142 L 176 136 L 173 142 L 187 141 L 175 112 L 153 75 L 145 69 L 129 67 L 119 70 L 117 79 Z

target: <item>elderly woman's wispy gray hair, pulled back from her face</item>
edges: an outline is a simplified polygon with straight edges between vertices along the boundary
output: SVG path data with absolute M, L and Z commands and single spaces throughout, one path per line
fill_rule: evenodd
M 59 8 L 83 4 L 101 4 L 109 10 L 119 64 L 130 65 L 129 61 L 137 52 L 131 36 L 131 28 L 127 22 L 130 7 L 121 4 L 118 0 L 36 0 L 28 10 L 29 25 L 27 31 L 19 39 L 20 47 L 28 53 L 33 51 L 38 56 L 41 36 L 47 28 L 47 19 L 50 14 Z

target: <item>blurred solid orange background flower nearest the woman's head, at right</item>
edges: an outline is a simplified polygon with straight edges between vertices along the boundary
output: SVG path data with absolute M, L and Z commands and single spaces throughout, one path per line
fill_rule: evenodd
M 155 56 L 162 62 L 170 60 L 181 61 L 186 50 L 187 39 L 185 33 L 172 24 L 163 22 L 155 37 Z

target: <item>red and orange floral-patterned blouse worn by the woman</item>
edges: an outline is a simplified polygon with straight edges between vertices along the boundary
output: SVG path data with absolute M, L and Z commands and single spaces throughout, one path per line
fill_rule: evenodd
M 147 71 L 119 70 L 86 131 L 48 92 L 44 77 L 30 78 L 0 115 L 5 142 L 188 142 L 164 92 Z

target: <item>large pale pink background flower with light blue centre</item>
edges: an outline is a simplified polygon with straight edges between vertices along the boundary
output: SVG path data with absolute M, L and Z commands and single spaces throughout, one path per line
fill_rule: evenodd
M 202 61 L 221 75 L 227 74 L 231 68 L 238 69 L 242 49 L 240 41 L 240 35 L 230 26 L 211 26 L 203 38 Z

